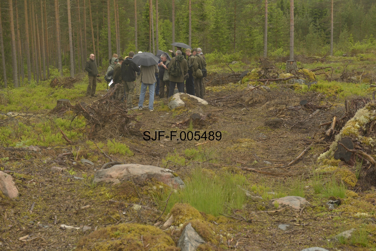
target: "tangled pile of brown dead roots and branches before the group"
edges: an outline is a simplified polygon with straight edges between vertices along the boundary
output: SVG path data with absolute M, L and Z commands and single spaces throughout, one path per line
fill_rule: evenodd
M 86 118 L 87 124 L 91 127 L 88 133 L 89 139 L 140 135 L 141 123 L 135 118 L 138 114 L 128 115 L 126 104 L 111 98 L 116 89 L 120 87 L 119 84 L 115 85 L 102 98 L 91 104 L 81 102 L 74 106 L 75 115 L 82 114 Z

